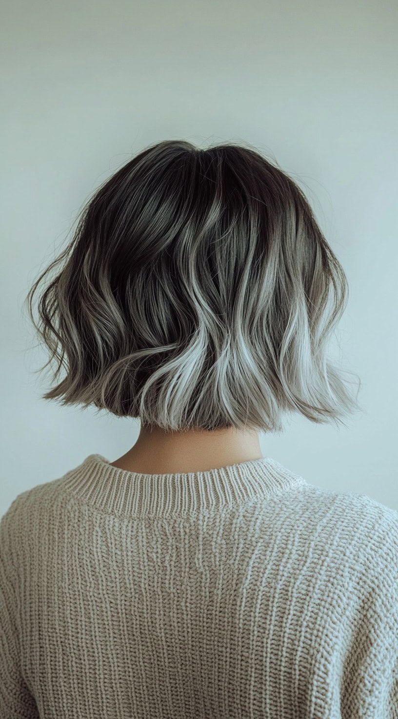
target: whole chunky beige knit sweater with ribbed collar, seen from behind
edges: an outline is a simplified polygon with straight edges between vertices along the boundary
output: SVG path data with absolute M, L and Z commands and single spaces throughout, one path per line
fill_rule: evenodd
M 396 719 L 398 513 L 90 454 L 0 521 L 1 719 Z

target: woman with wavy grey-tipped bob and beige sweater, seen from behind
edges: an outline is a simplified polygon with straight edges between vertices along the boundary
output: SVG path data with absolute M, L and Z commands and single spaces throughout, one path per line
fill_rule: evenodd
M 398 513 L 259 445 L 284 412 L 360 410 L 302 191 L 251 147 L 159 142 L 88 203 L 33 321 L 59 262 L 43 398 L 141 431 L 1 519 L 1 717 L 397 717 Z

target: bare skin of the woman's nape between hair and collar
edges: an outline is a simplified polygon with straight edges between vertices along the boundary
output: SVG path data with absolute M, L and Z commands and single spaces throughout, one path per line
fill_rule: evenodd
M 231 429 L 165 432 L 142 426 L 136 443 L 112 467 L 144 474 L 198 472 L 261 459 L 259 433 Z

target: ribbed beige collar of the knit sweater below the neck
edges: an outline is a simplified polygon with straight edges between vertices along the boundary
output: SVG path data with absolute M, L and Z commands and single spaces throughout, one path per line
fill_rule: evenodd
M 90 454 L 62 478 L 81 502 L 119 516 L 198 513 L 290 492 L 307 485 L 271 457 L 203 472 L 149 475 L 113 467 Z

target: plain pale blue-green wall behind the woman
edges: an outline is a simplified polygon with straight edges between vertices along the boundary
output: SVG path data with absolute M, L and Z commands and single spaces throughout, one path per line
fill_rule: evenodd
M 9 0 L 1 29 L 1 497 L 114 461 L 138 421 L 40 400 L 22 302 L 100 183 L 161 139 L 250 142 L 301 183 L 349 283 L 347 429 L 261 436 L 308 482 L 398 509 L 397 60 L 391 1 Z M 70 235 L 69 235 L 70 239 Z M 48 375 L 50 377 L 50 375 Z

